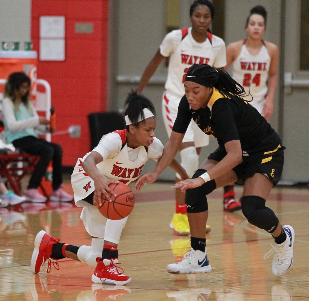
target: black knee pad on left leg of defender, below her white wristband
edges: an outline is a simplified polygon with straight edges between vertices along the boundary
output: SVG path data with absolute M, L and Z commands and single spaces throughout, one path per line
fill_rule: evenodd
M 205 169 L 197 169 L 192 179 L 198 178 L 205 173 Z M 208 181 L 205 184 L 186 190 L 185 203 L 187 205 L 188 213 L 198 213 L 208 210 L 208 203 L 206 195 L 216 189 L 216 182 L 214 180 Z

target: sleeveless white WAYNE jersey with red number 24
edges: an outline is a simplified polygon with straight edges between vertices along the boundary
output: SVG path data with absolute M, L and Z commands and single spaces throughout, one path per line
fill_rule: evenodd
M 270 67 L 270 56 L 263 42 L 258 55 L 251 55 L 246 47 L 247 39 L 243 40 L 240 55 L 233 62 L 233 79 L 240 83 L 245 89 L 250 88 L 253 97 L 250 104 L 256 104 L 265 99 L 267 95 L 267 78 Z M 243 97 L 251 100 L 251 96 Z

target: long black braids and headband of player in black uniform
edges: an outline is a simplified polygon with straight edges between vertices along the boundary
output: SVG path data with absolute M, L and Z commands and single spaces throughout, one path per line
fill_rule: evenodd
M 187 74 L 198 76 L 203 80 L 205 79 L 204 86 L 215 87 L 226 97 L 229 97 L 229 93 L 239 97 L 248 96 L 250 94 L 250 92 L 247 93 L 245 91 L 241 84 L 232 79 L 226 71 L 214 69 L 208 64 L 194 64 L 189 68 Z

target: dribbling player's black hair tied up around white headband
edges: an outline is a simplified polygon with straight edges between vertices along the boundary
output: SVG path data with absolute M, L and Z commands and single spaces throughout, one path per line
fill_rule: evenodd
M 154 116 L 156 116 L 155 107 L 153 103 L 144 95 L 137 94 L 136 90 L 131 90 L 128 94 L 127 99 L 125 100 L 125 115 L 128 115 L 132 124 L 138 127 L 138 120 L 140 117 L 142 121 L 145 119 L 144 108 L 148 108 Z M 127 126 L 128 128 L 128 126 Z

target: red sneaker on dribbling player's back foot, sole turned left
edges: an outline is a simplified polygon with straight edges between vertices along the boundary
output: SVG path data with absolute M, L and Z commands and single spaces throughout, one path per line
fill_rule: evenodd
M 59 270 L 57 260 L 49 257 L 52 254 L 53 245 L 59 241 L 59 238 L 53 238 L 44 230 L 41 230 L 38 234 L 36 234 L 36 238 L 34 240 L 34 250 L 31 258 L 31 270 L 33 273 L 37 274 L 40 272 L 41 267 L 47 259 L 47 273 L 50 272 L 51 262 L 53 262 L 53 266 Z

